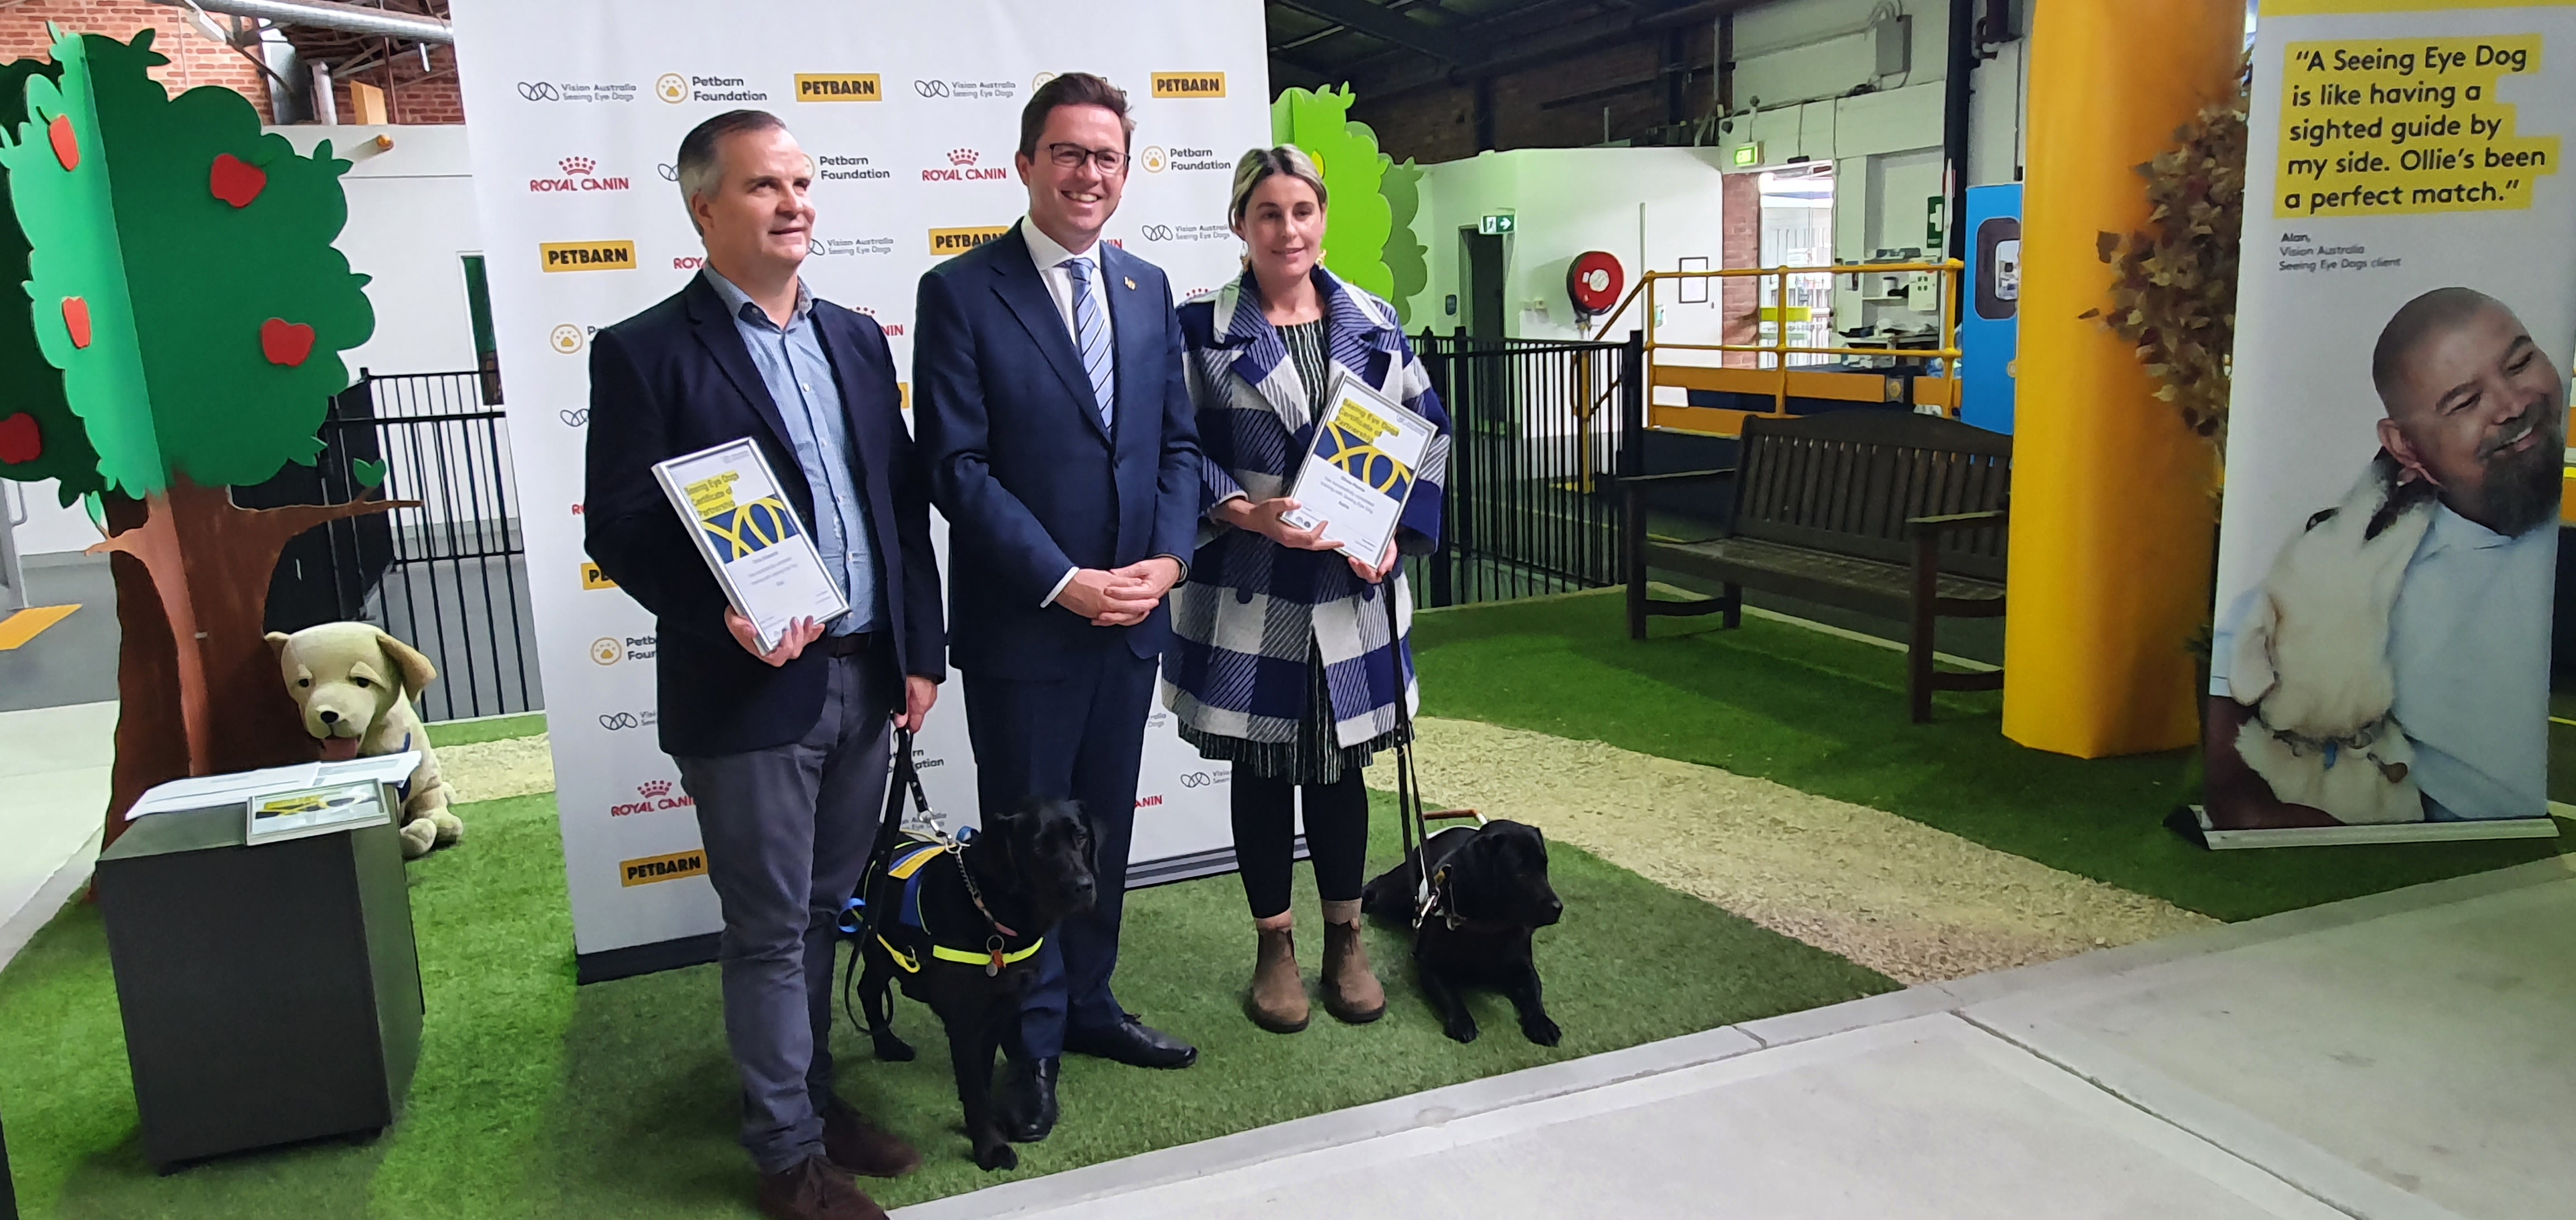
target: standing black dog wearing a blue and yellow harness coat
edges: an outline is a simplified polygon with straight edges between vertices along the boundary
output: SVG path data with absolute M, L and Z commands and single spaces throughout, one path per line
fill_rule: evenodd
M 1020 1019 L 1038 945 L 1092 909 L 1092 831 L 1072 800 L 1028 800 L 958 849 L 907 839 L 868 875 L 873 932 L 860 942 L 858 996 L 876 1058 L 909 1060 L 894 1037 L 889 983 L 948 1027 L 948 1060 L 981 1169 L 1018 1169 L 992 1102 L 992 1055 Z

